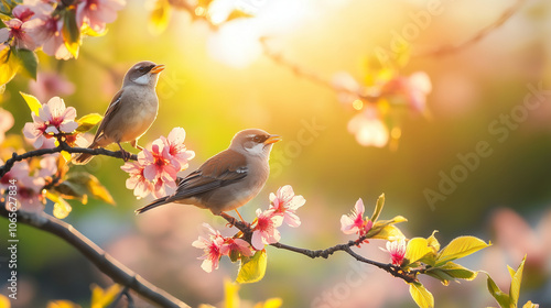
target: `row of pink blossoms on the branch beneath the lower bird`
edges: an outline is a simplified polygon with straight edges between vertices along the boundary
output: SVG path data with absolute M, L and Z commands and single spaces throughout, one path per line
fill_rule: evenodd
M 301 224 L 296 210 L 302 207 L 306 200 L 302 196 L 295 196 L 290 185 L 280 187 L 276 194 L 270 194 L 270 207 L 262 211 L 257 209 L 257 218 L 252 223 L 251 244 L 239 238 L 225 238 L 219 231 L 214 230 L 207 223 L 204 223 L 208 230 L 208 238 L 199 237 L 193 242 L 193 246 L 202 249 L 205 253 L 199 260 L 203 260 L 201 267 L 210 273 L 218 268 L 222 256 L 227 255 L 231 260 L 240 256 L 252 256 L 253 251 L 261 251 L 266 245 L 277 243 L 281 239 L 278 228 L 284 223 L 296 228 Z

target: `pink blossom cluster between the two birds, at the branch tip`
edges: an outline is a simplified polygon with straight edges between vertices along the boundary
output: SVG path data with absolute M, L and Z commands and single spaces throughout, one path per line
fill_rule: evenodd
M 138 198 L 152 194 L 156 198 L 174 193 L 177 173 L 188 167 L 188 161 L 195 156 L 184 145 L 185 130 L 174 128 L 169 136 L 153 141 L 150 148 L 138 154 L 138 162 L 127 162 L 121 169 L 130 177 L 127 188 L 133 189 Z

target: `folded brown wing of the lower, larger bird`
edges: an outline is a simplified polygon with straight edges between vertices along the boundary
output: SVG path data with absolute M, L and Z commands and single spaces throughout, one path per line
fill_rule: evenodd
M 188 198 L 244 179 L 248 174 L 245 155 L 231 150 L 218 153 L 183 178 L 170 199 Z

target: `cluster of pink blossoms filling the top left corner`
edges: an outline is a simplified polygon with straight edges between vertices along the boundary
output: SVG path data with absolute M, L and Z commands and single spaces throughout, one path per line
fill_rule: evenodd
M 69 3 L 68 3 L 69 2 Z M 24 0 L 13 8 L 11 19 L 0 29 L 0 50 L 11 45 L 68 59 L 76 55 L 80 33 L 99 34 L 117 19 L 125 0 Z M 75 41 L 76 40 L 76 41 Z

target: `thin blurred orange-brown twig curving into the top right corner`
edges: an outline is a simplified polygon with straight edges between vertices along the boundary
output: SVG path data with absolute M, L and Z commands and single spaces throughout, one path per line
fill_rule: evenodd
M 414 53 L 412 57 L 428 57 L 428 56 L 443 56 L 452 53 L 456 53 L 463 48 L 466 48 L 471 45 L 474 45 L 482 41 L 484 37 L 486 37 L 489 33 L 491 33 L 494 30 L 498 29 L 506 21 L 508 21 L 526 2 L 526 0 L 517 0 L 515 4 L 512 4 L 509 9 L 505 10 L 499 18 L 494 21 L 493 23 L 488 24 L 487 26 L 480 29 L 475 35 L 473 35 L 471 38 L 458 43 L 458 44 L 451 44 L 451 45 L 443 45 L 433 50 L 429 50 L 425 52 L 420 52 L 420 53 Z

